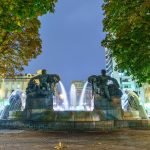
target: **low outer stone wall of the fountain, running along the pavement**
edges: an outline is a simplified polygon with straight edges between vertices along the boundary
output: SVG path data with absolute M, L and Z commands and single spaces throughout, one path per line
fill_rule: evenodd
M 5 129 L 41 129 L 49 131 L 110 131 L 121 128 L 150 129 L 150 120 L 114 120 L 114 121 L 15 121 L 0 120 L 0 128 Z

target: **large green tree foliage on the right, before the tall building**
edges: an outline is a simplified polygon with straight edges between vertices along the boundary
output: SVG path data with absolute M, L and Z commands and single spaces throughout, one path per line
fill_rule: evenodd
M 148 0 L 104 0 L 106 37 L 102 45 L 139 83 L 150 82 L 150 3 Z

